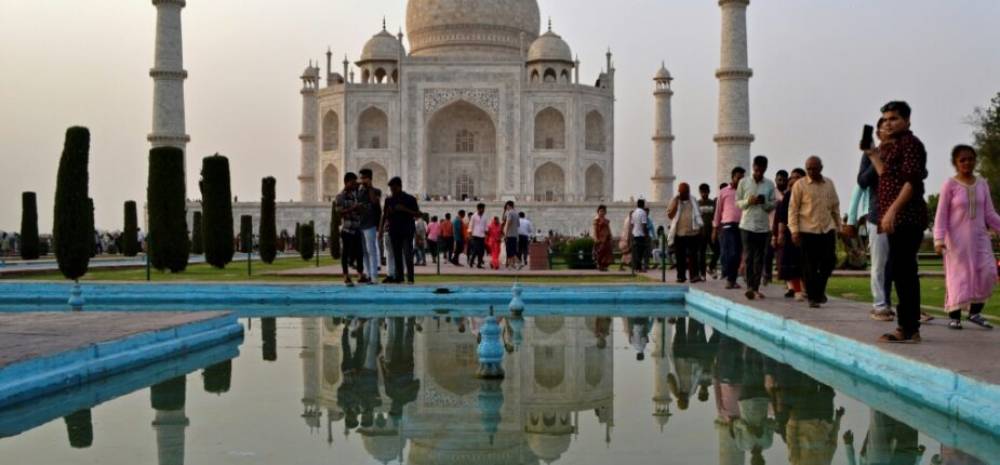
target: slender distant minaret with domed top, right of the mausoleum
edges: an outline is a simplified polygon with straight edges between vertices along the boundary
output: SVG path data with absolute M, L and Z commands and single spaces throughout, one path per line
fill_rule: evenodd
M 666 64 L 660 66 L 653 81 L 656 89 L 655 127 L 653 133 L 653 198 L 654 202 L 670 200 L 674 192 L 674 131 L 670 113 L 670 98 L 674 91 L 670 83 L 674 78 L 667 71 Z

